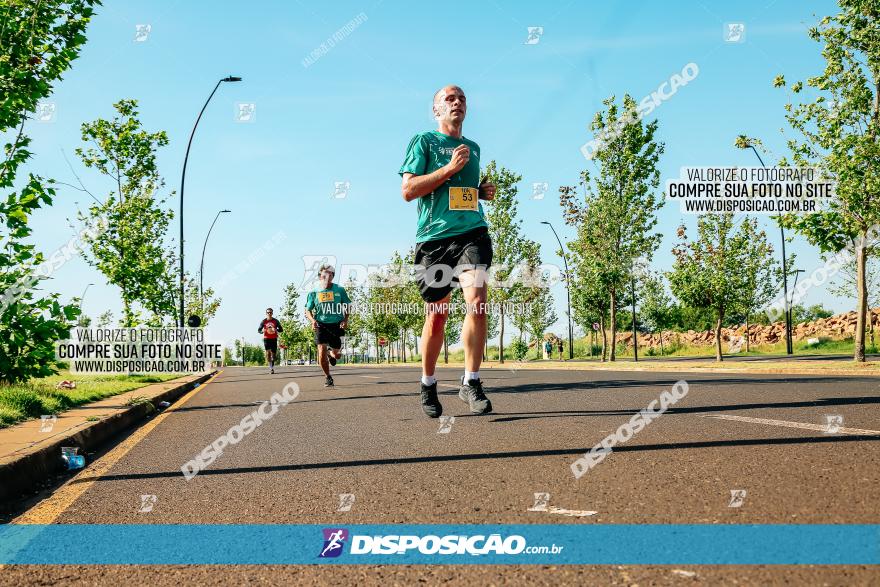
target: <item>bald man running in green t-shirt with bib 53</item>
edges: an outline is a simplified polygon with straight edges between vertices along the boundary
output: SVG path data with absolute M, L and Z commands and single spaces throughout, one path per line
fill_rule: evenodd
M 439 418 L 434 371 L 443 347 L 443 328 L 454 287 L 462 288 L 466 307 L 462 343 L 465 371 L 458 397 L 471 413 L 487 414 L 492 403 L 483 392 L 480 363 L 486 343 L 486 270 L 492 264 L 492 240 L 479 200 L 495 197 L 495 186 L 480 181 L 480 146 L 462 136 L 467 99 L 458 86 L 434 94 L 437 130 L 409 142 L 400 167 L 401 192 L 418 200 L 415 264 L 425 300 L 422 329 L 422 410 Z

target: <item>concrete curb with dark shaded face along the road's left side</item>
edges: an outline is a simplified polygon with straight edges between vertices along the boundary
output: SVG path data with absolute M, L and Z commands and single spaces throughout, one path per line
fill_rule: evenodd
M 133 390 L 150 400 L 150 403 L 138 403 L 119 410 L 106 418 L 88 422 L 84 426 L 70 430 L 45 442 L 37 443 L 22 450 L 19 454 L 0 460 L 0 504 L 12 501 L 32 490 L 39 483 L 53 475 L 65 471 L 61 460 L 62 446 L 77 446 L 80 454 L 92 452 L 121 432 L 125 432 L 155 414 L 155 405 L 159 402 L 174 402 L 194 387 L 210 379 L 217 370 L 204 373 L 192 379 L 186 379 L 179 385 L 162 389 L 150 394 L 145 386 Z M 167 386 L 168 383 L 157 387 Z

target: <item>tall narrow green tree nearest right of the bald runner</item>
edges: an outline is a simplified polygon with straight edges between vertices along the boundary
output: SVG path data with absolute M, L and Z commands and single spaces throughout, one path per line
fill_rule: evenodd
M 621 127 L 596 152 L 597 177 L 581 173 L 580 185 L 586 192 L 581 203 L 575 187 L 560 188 L 560 202 L 566 223 L 578 229 L 574 248 L 593 267 L 595 277 L 608 292 L 611 340 L 617 337 L 617 309 L 630 283 L 638 258 L 650 261 L 661 235 L 651 233 L 662 206 L 655 190 L 660 185 L 658 163 L 665 149 L 657 142 L 657 121 L 644 123 L 636 115 L 637 104 L 624 95 L 622 106 L 614 96 L 603 101 L 607 111 L 599 111 L 591 129 L 600 133 L 623 116 L 633 122 Z M 616 358 L 611 345 L 610 360 Z

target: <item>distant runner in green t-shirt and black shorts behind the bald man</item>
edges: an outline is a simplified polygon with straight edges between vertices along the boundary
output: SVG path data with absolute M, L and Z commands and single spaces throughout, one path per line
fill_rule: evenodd
M 315 331 L 318 362 L 326 376 L 324 387 L 333 387 L 330 365 L 335 366 L 336 360 L 342 356 L 342 337 L 348 326 L 351 304 L 345 288 L 333 283 L 335 274 L 336 270 L 331 265 L 322 265 L 318 271 L 321 289 L 309 292 L 306 297 L 306 318 Z

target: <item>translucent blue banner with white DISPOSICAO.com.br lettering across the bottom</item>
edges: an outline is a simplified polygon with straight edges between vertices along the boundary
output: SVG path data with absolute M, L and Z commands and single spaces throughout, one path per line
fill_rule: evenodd
M 0 526 L 0 564 L 878 563 L 876 524 Z

